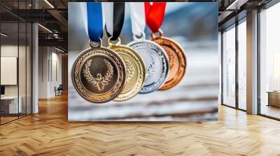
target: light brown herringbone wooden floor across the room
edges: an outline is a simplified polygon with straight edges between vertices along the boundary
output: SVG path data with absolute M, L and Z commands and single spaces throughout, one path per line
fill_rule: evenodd
M 280 155 L 280 123 L 219 107 L 218 122 L 67 121 L 67 96 L 0 126 L 0 155 Z

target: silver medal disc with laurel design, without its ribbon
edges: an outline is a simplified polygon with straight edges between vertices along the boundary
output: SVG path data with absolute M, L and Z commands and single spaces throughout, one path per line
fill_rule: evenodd
M 168 56 L 165 49 L 151 40 L 143 38 L 128 43 L 144 60 L 146 64 L 146 80 L 140 93 L 150 93 L 158 90 L 167 79 L 169 72 Z

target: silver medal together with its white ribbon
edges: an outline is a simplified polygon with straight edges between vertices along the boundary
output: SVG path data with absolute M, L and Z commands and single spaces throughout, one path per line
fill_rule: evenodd
M 158 90 L 167 79 L 169 64 L 165 49 L 151 40 L 146 40 L 144 29 L 145 8 L 143 2 L 130 2 L 130 17 L 134 41 L 127 44 L 144 60 L 146 65 L 146 80 L 140 93 L 150 93 Z

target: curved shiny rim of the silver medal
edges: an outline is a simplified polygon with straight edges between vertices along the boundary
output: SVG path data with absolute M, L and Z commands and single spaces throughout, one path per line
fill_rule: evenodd
M 158 47 L 158 49 L 160 49 L 161 54 L 162 54 L 162 56 L 163 56 L 163 58 L 162 58 L 162 56 L 159 55 L 160 58 L 161 58 L 161 61 L 160 61 L 160 62 L 162 63 L 162 66 L 163 66 L 163 67 L 165 67 L 165 65 L 166 65 L 166 69 L 164 69 L 164 68 L 162 69 L 160 78 L 159 78 L 157 81 L 153 82 L 152 84 L 150 84 L 150 85 L 148 85 L 148 86 L 155 86 L 155 84 L 158 84 L 159 81 L 160 81 L 160 79 L 162 79 L 162 81 L 160 81 L 160 85 L 157 86 L 156 88 L 151 89 L 151 90 L 143 91 L 143 88 L 147 88 L 147 87 L 148 87 L 148 86 L 145 86 L 145 85 L 144 85 L 143 88 L 141 89 L 141 91 L 140 91 L 139 93 L 145 94 L 145 93 L 151 93 L 151 92 L 153 92 L 153 91 L 157 91 L 159 88 L 162 87 L 162 85 L 165 84 L 165 81 L 166 81 L 166 79 L 167 79 L 167 77 L 168 77 L 168 74 L 169 74 L 169 58 L 168 58 L 168 56 L 167 56 L 167 53 L 165 52 L 165 49 L 163 49 L 160 45 L 158 45 L 158 43 L 153 42 L 153 41 L 151 41 L 151 40 L 146 40 L 146 39 L 144 39 L 144 40 L 133 40 L 132 42 L 129 42 L 129 43 L 127 44 L 127 46 L 130 47 L 130 46 L 135 45 L 135 44 L 141 44 L 141 42 L 148 43 L 148 44 L 154 45 L 155 47 Z M 131 47 L 131 48 L 132 48 L 132 47 Z M 133 49 L 133 48 L 132 48 L 132 49 Z M 135 49 L 134 49 L 134 50 L 135 50 Z M 137 50 L 135 50 L 135 51 L 137 52 Z M 137 52 L 137 53 L 138 53 L 138 52 Z M 156 53 L 158 54 L 158 52 L 156 52 Z M 165 61 L 163 61 L 163 60 L 165 60 Z M 165 65 L 163 65 L 163 62 L 165 62 Z M 166 70 L 166 74 L 165 74 L 164 76 L 162 76 L 162 74 L 165 73 L 163 70 Z

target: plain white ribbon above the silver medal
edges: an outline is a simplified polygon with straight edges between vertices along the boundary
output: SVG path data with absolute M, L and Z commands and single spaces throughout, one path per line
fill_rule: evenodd
M 132 21 L 132 33 L 135 36 L 145 37 L 145 6 L 144 2 L 129 2 L 130 5 L 130 19 Z M 135 38 L 134 38 L 135 40 Z

